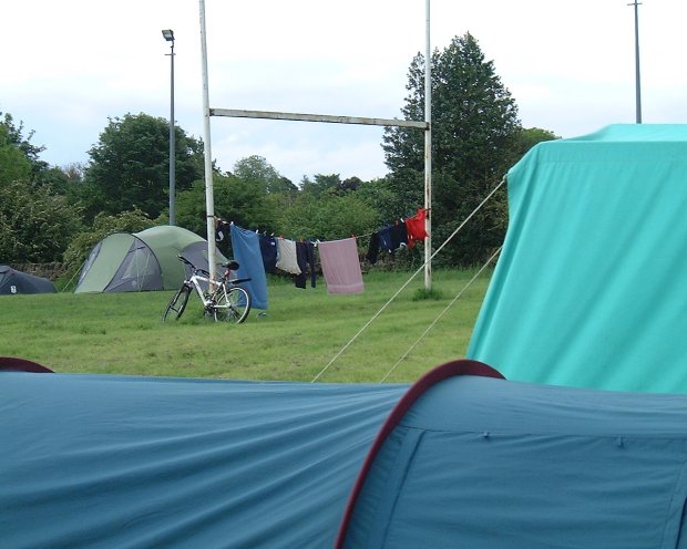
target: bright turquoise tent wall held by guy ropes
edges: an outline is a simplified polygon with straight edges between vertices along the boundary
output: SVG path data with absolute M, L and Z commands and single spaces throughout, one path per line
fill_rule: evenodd
M 687 391 L 687 125 L 541 143 L 468 350 L 509 380 Z

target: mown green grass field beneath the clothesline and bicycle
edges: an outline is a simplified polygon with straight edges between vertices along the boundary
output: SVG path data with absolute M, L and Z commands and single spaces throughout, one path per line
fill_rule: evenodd
M 490 273 L 482 273 L 400 363 L 397 362 L 461 292 L 474 271 L 435 271 L 437 299 L 417 299 L 416 279 L 318 379 L 320 382 L 411 382 L 464 356 Z M 172 291 L 0 297 L 0 355 L 37 361 L 55 372 L 311 381 L 408 280 L 370 272 L 365 292 L 329 296 L 270 279 L 269 308 L 244 324 L 206 320 L 194 296 L 177 322 L 161 322 Z

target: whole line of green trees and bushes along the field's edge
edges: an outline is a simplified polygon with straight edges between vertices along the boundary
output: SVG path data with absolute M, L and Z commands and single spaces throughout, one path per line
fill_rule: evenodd
M 430 62 L 431 217 L 438 246 L 529 148 L 556 136 L 522 127 L 515 100 L 470 33 L 434 50 Z M 418 54 L 410 64 L 406 120 L 424 117 L 424 63 Z M 40 158 L 44 147 L 31 143 L 33 132 L 0 112 L 0 262 L 64 261 L 75 270 L 107 234 L 167 224 L 168 127 L 165 118 L 145 113 L 111 117 L 86 165 L 54 167 Z M 175 138 L 176 224 L 204 235 L 203 143 L 178 126 Z M 257 155 L 226 172 L 213 165 L 215 214 L 289 238 L 370 234 L 423 205 L 423 143 L 422 132 L 388 128 L 381 146 L 389 173 L 367 182 L 316 174 L 295 184 Z M 502 188 L 438 265 L 480 263 L 501 245 L 506 225 Z

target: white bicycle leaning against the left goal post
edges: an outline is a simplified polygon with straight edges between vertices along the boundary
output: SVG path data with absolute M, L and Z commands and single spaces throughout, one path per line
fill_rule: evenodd
M 174 317 L 175 320 L 182 317 L 186 310 L 188 297 L 194 290 L 203 302 L 205 314 L 212 317 L 215 322 L 227 321 L 240 324 L 246 320 L 250 312 L 250 294 L 237 284 L 248 282 L 250 279 L 229 279 L 230 272 L 238 269 L 238 263 L 236 261 L 222 263 L 222 267 L 225 268 L 224 274 L 219 280 L 212 281 L 209 279 L 209 272 L 205 269 L 196 267 L 185 257 L 177 257 L 191 268 L 191 277 L 184 280 L 182 287 L 167 303 L 165 312 L 162 315 L 163 322 L 166 321 L 168 317 Z M 213 284 L 215 289 L 209 291 Z M 205 286 L 208 288 L 207 290 L 204 290 Z

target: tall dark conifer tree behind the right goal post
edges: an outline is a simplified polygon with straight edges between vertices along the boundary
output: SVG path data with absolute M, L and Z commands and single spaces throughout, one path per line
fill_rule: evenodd
M 520 131 L 517 107 L 485 61 L 476 40 L 454 38 L 432 63 L 432 238 L 437 245 L 465 219 L 499 183 L 512 159 L 513 137 Z M 418 54 L 409 71 L 410 92 L 402 114 L 424 118 L 424 58 Z M 383 138 L 389 184 L 412 209 L 423 204 L 424 136 L 411 128 L 390 128 Z M 481 262 L 503 239 L 505 189 L 498 208 L 483 209 L 447 246 L 440 262 Z M 400 213 L 399 213 L 400 214 Z

